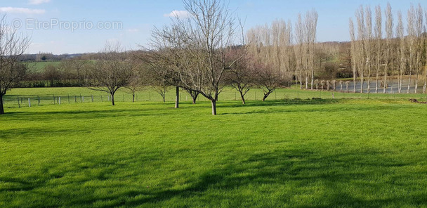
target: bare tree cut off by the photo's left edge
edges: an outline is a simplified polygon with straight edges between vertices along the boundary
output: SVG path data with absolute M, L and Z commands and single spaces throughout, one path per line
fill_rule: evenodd
M 4 114 L 3 96 L 24 78 L 27 67 L 18 58 L 30 44 L 29 37 L 18 33 L 8 24 L 6 15 L 0 16 L 0 115 Z

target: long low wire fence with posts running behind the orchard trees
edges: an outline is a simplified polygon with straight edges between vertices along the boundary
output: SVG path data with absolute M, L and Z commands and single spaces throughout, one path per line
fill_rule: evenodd
M 169 91 L 166 93 L 166 102 L 175 101 L 175 93 Z M 251 89 L 246 96 L 245 100 L 262 100 L 263 91 L 260 89 Z M 406 94 L 406 93 L 350 93 L 342 91 L 310 91 L 310 90 L 296 90 L 296 89 L 277 89 L 268 96 L 267 100 L 287 100 L 287 99 L 395 99 L 395 100 L 409 100 L 415 98 L 420 101 L 427 101 L 426 94 Z M 72 103 L 111 103 L 111 96 L 107 93 L 70 93 L 70 94 L 51 94 L 51 95 L 6 95 L 4 96 L 5 108 L 27 108 L 44 105 L 65 105 Z M 227 90 L 223 91 L 218 101 L 232 101 L 240 100 L 237 91 Z M 180 102 L 191 102 L 190 94 L 185 91 L 180 91 Z M 199 96 L 197 101 L 209 101 L 203 96 Z M 130 102 L 163 102 L 162 96 L 154 91 L 140 91 L 133 96 L 130 93 L 118 92 L 114 96 L 115 103 L 130 103 Z

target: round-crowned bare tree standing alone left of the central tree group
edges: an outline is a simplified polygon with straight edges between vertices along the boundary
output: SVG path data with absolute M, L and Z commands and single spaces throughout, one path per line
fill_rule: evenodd
M 107 43 L 100 56 L 86 73 L 86 85 L 89 89 L 105 91 L 110 94 L 112 105 L 114 94 L 127 86 L 132 77 L 132 67 L 127 53 L 120 44 Z

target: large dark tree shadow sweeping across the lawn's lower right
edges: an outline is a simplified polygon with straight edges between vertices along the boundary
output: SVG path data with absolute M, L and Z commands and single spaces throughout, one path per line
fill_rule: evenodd
M 188 188 L 143 193 L 144 195 L 149 195 L 149 197 L 145 197 L 143 200 L 126 202 L 125 204 L 130 207 L 147 203 L 154 205 L 159 202 L 167 202 L 172 198 L 185 201 L 189 198 L 202 197 L 204 194 L 215 190 L 232 194 L 239 188 L 256 188 L 270 184 L 271 186 L 284 186 L 294 190 L 294 192 L 284 191 L 282 195 L 285 197 L 277 202 L 270 202 L 270 204 L 279 207 L 284 204 L 291 205 L 291 207 L 382 207 L 385 204 L 427 205 L 427 201 L 423 201 L 427 200 L 427 196 L 418 194 L 409 194 L 406 197 L 390 196 L 388 198 L 376 197 L 373 199 L 372 197 L 356 197 L 350 193 L 349 190 L 351 188 L 360 191 L 381 190 L 386 186 L 385 182 L 367 181 L 366 183 L 357 184 L 350 181 L 368 180 L 368 178 L 372 178 L 372 174 L 378 174 L 376 172 L 378 167 L 394 167 L 396 163 L 398 166 L 401 165 L 400 162 L 381 157 L 376 152 L 373 152 L 370 156 L 379 157 L 380 159 L 360 158 L 363 154 L 369 155 L 368 152 L 353 152 L 322 157 L 315 156 L 313 152 L 299 150 L 254 154 L 247 160 L 229 164 L 223 169 L 206 171 L 199 176 L 197 181 L 191 181 L 191 186 Z M 334 162 L 334 164 L 331 164 L 331 162 Z M 368 171 L 357 171 L 357 168 L 367 169 Z M 401 177 L 404 178 L 406 176 Z M 310 192 L 304 193 L 304 190 L 317 184 L 322 184 L 322 186 L 317 187 L 322 191 L 317 195 L 312 195 L 312 197 L 320 200 L 320 204 L 304 204 L 303 202 L 292 200 L 298 195 L 310 194 Z M 346 186 L 351 188 L 343 190 L 343 187 Z M 259 192 L 259 194 L 269 195 L 269 193 L 262 192 Z M 241 205 L 239 203 L 242 201 L 232 202 L 232 198 L 232 195 L 216 195 L 216 197 L 212 198 L 213 201 L 207 205 L 214 207 L 216 204 L 220 204 L 221 201 L 226 200 L 228 202 L 231 201 L 231 207 L 239 207 Z M 245 201 L 244 199 L 242 200 Z M 191 206 L 191 204 L 185 205 Z M 259 206 L 259 204 L 252 205 Z

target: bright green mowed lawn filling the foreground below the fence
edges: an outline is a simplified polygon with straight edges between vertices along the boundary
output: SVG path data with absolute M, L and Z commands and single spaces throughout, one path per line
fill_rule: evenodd
M 427 207 L 427 105 L 77 103 L 0 117 L 0 207 Z

